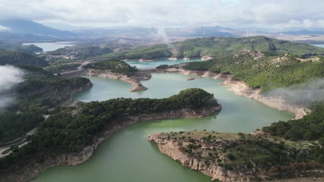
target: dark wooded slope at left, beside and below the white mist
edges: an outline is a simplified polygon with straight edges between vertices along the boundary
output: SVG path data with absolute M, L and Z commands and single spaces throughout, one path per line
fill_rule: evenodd
M 32 65 L 21 65 L 26 72 L 24 81 L 15 85 L 10 93 L 15 102 L 0 112 L 0 143 L 22 136 L 44 121 L 42 114 L 67 101 L 80 88 L 91 86 L 89 79 L 64 79 Z M 10 97 L 10 93 L 8 96 Z

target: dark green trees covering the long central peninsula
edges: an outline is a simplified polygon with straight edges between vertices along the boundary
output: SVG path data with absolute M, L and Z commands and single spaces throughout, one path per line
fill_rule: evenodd
M 152 106 L 153 105 L 153 106 Z M 182 90 L 165 99 L 109 99 L 79 103 L 75 107 L 57 107 L 51 117 L 43 121 L 38 132 L 30 137 L 30 143 L 17 148 L 12 154 L 0 160 L 0 168 L 8 165 L 24 165 L 35 154 L 46 155 L 80 152 L 91 145 L 93 139 L 107 127 L 113 128 L 122 117 L 132 114 L 151 114 L 170 110 L 209 108 L 218 105 L 213 94 L 199 88 Z M 37 158 L 37 157 L 36 157 Z

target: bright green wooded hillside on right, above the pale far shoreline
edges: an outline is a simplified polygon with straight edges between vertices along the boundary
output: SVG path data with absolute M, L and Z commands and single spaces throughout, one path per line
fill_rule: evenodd
M 307 61 L 300 61 L 288 55 L 279 61 L 278 57 L 274 56 L 262 57 L 258 60 L 254 58 L 250 55 L 246 57 L 232 55 L 222 59 L 188 63 L 183 68 L 233 74 L 234 80 L 244 81 L 251 88 L 261 88 L 262 92 L 324 77 L 323 57 Z

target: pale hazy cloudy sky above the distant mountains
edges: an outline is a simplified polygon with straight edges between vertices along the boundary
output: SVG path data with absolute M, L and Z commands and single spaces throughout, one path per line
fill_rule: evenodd
M 322 0 L 0 0 L 0 17 L 51 26 L 324 28 Z

